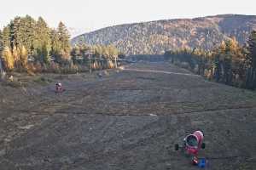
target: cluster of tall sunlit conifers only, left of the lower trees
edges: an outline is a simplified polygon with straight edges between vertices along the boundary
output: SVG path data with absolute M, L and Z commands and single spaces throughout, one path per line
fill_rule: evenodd
M 61 61 L 69 59 L 71 46 L 67 27 L 60 22 L 49 28 L 42 17 L 15 17 L 0 31 L 0 50 L 6 70 L 27 69 L 27 59 L 49 64 L 50 56 Z

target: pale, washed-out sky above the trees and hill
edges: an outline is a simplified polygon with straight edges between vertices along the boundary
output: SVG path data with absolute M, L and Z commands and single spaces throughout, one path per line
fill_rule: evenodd
M 73 36 L 134 22 L 195 18 L 215 14 L 256 15 L 256 0 L 2 0 L 0 28 L 15 16 L 42 16 L 50 27 L 59 21 Z

